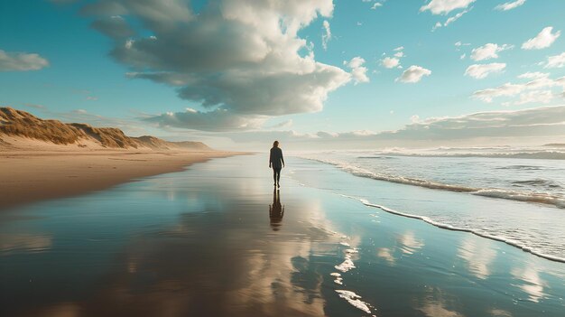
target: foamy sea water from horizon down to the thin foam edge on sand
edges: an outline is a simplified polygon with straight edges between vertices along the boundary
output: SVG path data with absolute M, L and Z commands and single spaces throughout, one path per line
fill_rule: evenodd
M 496 238 L 565 262 L 565 160 L 367 155 L 340 152 L 308 157 L 366 178 L 339 192 L 364 198 L 367 205 L 392 209 L 442 228 Z M 304 182 L 310 182 L 309 177 L 305 175 Z M 429 201 L 416 206 L 412 200 L 388 203 L 388 198 L 401 196 L 391 192 L 394 190 L 425 192 L 423 200 Z

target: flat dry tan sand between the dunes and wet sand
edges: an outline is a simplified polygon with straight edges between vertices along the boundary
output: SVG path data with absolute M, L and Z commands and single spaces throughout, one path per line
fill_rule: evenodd
M 0 210 L 40 200 L 101 191 L 138 178 L 179 172 L 212 158 L 249 154 L 227 151 L 30 151 L 0 152 Z

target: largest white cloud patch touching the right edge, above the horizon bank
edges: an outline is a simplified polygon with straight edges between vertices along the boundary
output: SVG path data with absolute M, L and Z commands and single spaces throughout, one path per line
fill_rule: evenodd
M 506 105 L 522 105 L 524 103 L 540 101 L 550 102 L 552 98 L 558 96 L 557 92 L 551 89 L 565 90 L 565 77 L 550 79 L 542 76 L 541 73 L 525 73 L 520 75 L 521 79 L 532 79 L 524 83 L 510 83 L 491 89 L 481 89 L 473 93 L 472 97 L 490 103 L 495 98 L 511 98 L 506 101 Z M 547 92 L 551 91 L 551 95 Z M 517 100 L 512 98 L 518 97 Z

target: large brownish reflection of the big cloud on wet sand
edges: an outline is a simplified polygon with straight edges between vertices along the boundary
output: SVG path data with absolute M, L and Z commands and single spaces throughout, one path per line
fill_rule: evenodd
M 243 213 L 185 213 L 170 228 L 133 238 L 118 259 L 120 268 L 106 276 L 110 283 L 75 304 L 98 316 L 324 315 L 321 284 L 327 277 L 310 259 L 335 255 L 342 235 L 316 200 L 300 210 L 287 204 L 279 231 L 265 221 L 270 201 L 258 202 Z M 210 208 L 220 205 L 241 210 L 228 200 Z M 51 307 L 33 313 L 44 315 Z

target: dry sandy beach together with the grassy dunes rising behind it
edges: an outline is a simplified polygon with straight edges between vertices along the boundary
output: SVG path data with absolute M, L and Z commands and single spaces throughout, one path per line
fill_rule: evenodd
M 131 137 L 118 128 L 65 124 L 1 107 L 0 210 L 103 190 L 234 154 L 200 142 Z

